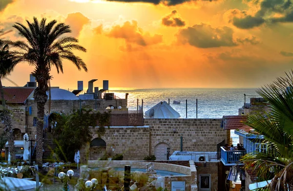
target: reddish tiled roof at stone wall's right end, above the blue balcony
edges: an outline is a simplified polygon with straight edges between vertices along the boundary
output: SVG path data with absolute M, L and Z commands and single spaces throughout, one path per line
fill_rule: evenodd
M 245 126 L 247 116 L 235 115 L 235 116 L 223 116 L 221 127 L 224 129 L 241 129 Z

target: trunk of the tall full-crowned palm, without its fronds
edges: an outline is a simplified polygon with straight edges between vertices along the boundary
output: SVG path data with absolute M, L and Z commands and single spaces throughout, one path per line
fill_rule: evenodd
M 45 104 L 47 102 L 48 96 L 46 94 L 46 91 L 40 90 L 39 87 L 37 87 L 34 91 L 34 99 L 37 103 L 37 147 L 36 147 L 36 163 L 39 165 L 39 167 L 42 167 L 42 141 L 43 141 L 43 126 L 44 126 L 44 114 L 45 114 Z

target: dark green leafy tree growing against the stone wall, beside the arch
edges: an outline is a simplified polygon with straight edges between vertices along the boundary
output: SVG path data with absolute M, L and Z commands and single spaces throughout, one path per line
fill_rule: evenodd
M 74 110 L 68 115 L 61 115 L 56 119 L 54 130 L 55 141 L 58 145 L 57 155 L 65 161 L 73 161 L 75 152 L 91 140 L 90 126 L 97 126 L 99 136 L 105 134 L 105 125 L 109 123 L 110 114 L 94 112 L 92 109 L 82 108 Z

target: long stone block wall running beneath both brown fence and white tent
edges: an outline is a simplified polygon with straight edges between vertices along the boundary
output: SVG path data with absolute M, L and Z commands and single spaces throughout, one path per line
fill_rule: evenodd
M 184 151 L 192 151 L 193 144 L 217 144 L 223 139 L 227 142 L 229 131 L 223 130 L 220 123 L 220 119 L 144 119 L 143 127 L 106 128 L 101 139 L 106 142 L 106 152 L 111 156 L 123 154 L 124 160 L 142 160 L 154 155 L 156 145 L 162 142 L 170 146 L 171 154 L 180 150 L 181 136 Z M 98 138 L 98 127 L 91 128 L 92 140 Z M 89 157 L 87 143 L 81 150 L 82 162 Z

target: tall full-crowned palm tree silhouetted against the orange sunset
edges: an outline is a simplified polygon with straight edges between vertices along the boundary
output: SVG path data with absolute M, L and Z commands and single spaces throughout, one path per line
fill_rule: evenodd
M 16 50 L 15 56 L 21 62 L 27 62 L 35 67 L 32 72 L 38 83 L 34 91 L 34 100 L 37 103 L 37 148 L 36 162 L 42 165 L 42 137 L 43 137 L 43 118 L 44 106 L 48 96 L 49 80 L 51 79 L 51 67 L 56 67 L 57 72 L 63 73 L 63 59 L 71 61 L 79 70 L 87 71 L 84 61 L 76 56 L 72 51 L 79 50 L 86 52 L 86 49 L 78 45 L 78 40 L 71 36 L 63 36 L 70 33 L 69 25 L 58 23 L 52 20 L 46 23 L 46 18 L 41 22 L 34 17 L 33 22 L 26 20 L 28 27 L 21 23 L 16 23 L 12 27 L 16 28 L 19 35 L 26 39 L 25 41 L 7 41 Z

